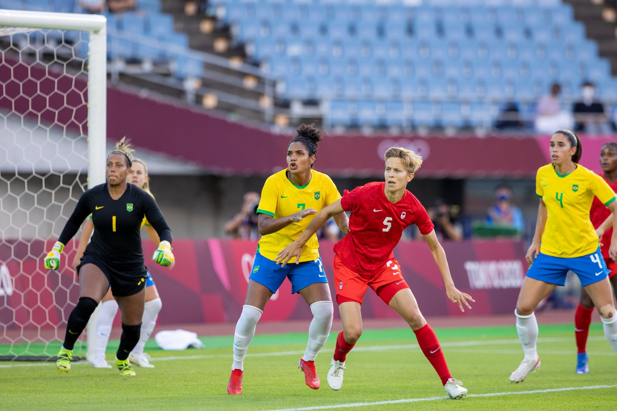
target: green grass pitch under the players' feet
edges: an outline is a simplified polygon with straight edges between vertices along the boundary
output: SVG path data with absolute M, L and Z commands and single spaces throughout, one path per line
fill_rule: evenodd
M 307 335 L 260 335 L 258 326 L 244 361 L 241 396 L 226 392 L 232 339 L 217 336 L 202 338 L 205 349 L 181 352 L 157 350 L 149 341 L 146 351 L 156 368 L 136 368 L 135 377 L 122 377 L 115 368 L 95 369 L 80 363 L 73 364 L 66 375 L 57 372 L 54 363 L 2 362 L 0 404 L 7 410 L 53 407 L 230 411 L 328 409 L 335 405 L 347 408 L 358 403 L 365 404 L 355 409 L 615 410 L 617 355 L 605 340 L 602 325 L 592 325 L 589 333 L 589 375 L 574 373 L 573 328 L 540 325 L 538 350 L 542 366 L 521 384 L 508 381 L 523 359 L 513 325 L 436 330 L 450 372 L 469 389 L 470 396 L 457 401 L 445 398 L 439 378 L 418 349 L 411 330 L 366 330 L 347 355 L 344 384 L 336 392 L 326 383 L 326 371 L 338 330 L 333 330 L 317 357 L 321 388 L 313 391 L 305 386 L 304 375 L 297 368 Z M 113 359 L 113 343 L 108 360 Z M 551 389 L 569 391 L 512 394 Z M 483 395 L 494 393 L 501 394 Z M 407 401 L 411 399 L 419 401 Z M 366 404 L 397 400 L 407 402 Z

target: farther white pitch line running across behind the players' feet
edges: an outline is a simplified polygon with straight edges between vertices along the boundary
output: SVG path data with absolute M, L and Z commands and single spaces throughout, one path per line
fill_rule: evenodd
M 537 342 L 568 342 L 572 341 L 573 338 L 566 337 L 547 337 L 547 338 L 538 338 Z M 230 339 L 231 341 L 231 339 Z M 605 341 L 605 338 L 602 336 L 591 336 L 587 339 L 587 341 Z M 442 347 L 476 347 L 476 346 L 499 346 L 499 345 L 507 345 L 507 344 L 520 344 L 521 342 L 518 339 L 485 339 L 479 341 L 452 341 L 452 342 L 443 342 L 441 344 Z M 401 344 L 401 345 L 386 345 L 386 346 L 368 346 L 368 347 L 355 347 L 354 352 L 360 351 L 384 351 L 384 350 L 402 350 L 402 349 L 418 349 L 418 344 Z M 482 351 L 482 352 L 491 352 L 491 351 Z M 514 351 L 513 354 L 520 354 L 522 351 Z M 566 354 L 573 354 L 572 352 L 564 351 Z M 550 351 L 540 351 L 540 354 L 550 354 Z M 277 351 L 277 352 L 256 352 L 253 354 L 246 354 L 247 357 L 281 357 L 284 355 L 301 355 L 304 354 L 304 351 Z M 555 352 L 557 354 L 557 352 Z M 607 354 L 598 354 L 598 355 L 607 355 Z M 610 354 L 614 355 L 614 354 Z M 228 358 L 231 354 L 203 354 L 203 355 L 172 355 L 170 357 L 152 357 L 152 361 L 175 361 L 175 360 L 201 360 L 201 359 L 209 359 L 209 358 Z M 114 363 L 113 361 L 108 361 L 109 363 Z M 0 364 L 0 368 L 12 368 L 12 367 L 45 367 L 51 366 L 52 362 L 32 362 L 32 363 L 8 363 L 8 364 Z M 88 364 L 88 362 L 80 361 L 74 362 L 71 365 L 80 365 L 80 364 Z

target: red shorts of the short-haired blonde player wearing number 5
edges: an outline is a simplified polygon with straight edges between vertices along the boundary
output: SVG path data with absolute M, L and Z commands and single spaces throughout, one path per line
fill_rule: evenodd
M 383 267 L 375 270 L 375 275 L 369 277 L 353 272 L 343 265 L 338 254 L 334 254 L 334 288 L 336 302 L 354 301 L 362 304 L 366 289 L 370 287 L 386 304 L 390 303 L 394 294 L 409 288 L 397 260 L 389 260 Z

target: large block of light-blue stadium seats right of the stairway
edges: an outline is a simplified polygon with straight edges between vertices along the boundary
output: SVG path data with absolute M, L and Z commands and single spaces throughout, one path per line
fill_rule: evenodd
M 577 98 L 588 79 L 598 83 L 600 98 L 617 97 L 607 60 L 559 0 L 209 3 L 234 41 L 283 83 L 281 97 L 334 99 L 328 120 L 346 127 L 403 125 L 369 112 L 385 102 L 402 113 L 404 101 L 411 102 L 413 125 L 488 126 L 487 112 L 497 115 L 491 107 L 527 107 L 555 81 L 565 98 Z

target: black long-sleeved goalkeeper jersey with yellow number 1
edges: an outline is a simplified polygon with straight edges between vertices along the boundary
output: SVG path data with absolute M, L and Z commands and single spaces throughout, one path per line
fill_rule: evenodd
M 77 202 L 58 241 L 67 244 L 89 214 L 92 214 L 94 234 L 84 254 L 96 255 L 108 264 L 125 268 L 144 265 L 140 233 L 144 215 L 161 241 L 172 242 L 172 231 L 159 206 L 134 184 L 127 183 L 126 191 L 117 200 L 110 196 L 107 183 L 87 190 Z

